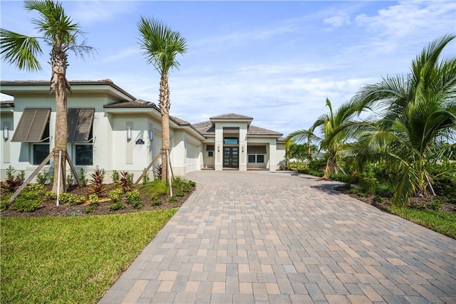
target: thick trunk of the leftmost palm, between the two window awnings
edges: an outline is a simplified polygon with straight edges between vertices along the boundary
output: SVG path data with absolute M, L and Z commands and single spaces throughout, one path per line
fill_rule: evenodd
M 52 191 L 66 192 L 66 143 L 67 143 L 67 102 L 66 89 L 70 88 L 66 80 L 66 54 L 53 48 L 51 52 L 52 78 L 51 90 L 56 90 L 56 132 L 54 145 L 54 180 Z M 58 151 L 61 151 L 60 170 Z M 58 176 L 58 172 L 61 172 Z

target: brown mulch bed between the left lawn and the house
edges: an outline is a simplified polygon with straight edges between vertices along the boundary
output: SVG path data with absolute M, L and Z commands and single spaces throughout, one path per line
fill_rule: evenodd
M 100 202 L 98 207 L 90 213 L 86 213 L 86 209 L 90 207 L 88 203 L 77 206 L 68 206 L 67 204 L 59 204 L 59 206 L 56 206 L 56 200 L 51 200 L 41 204 L 41 207 L 33 212 L 16 211 L 14 209 L 8 208 L 4 211 L 1 211 L 0 216 L 88 216 L 103 214 L 125 214 L 147 210 L 171 209 L 179 208 L 180 206 L 182 206 L 182 204 L 184 204 L 184 202 L 188 199 L 190 194 L 192 194 L 192 192 L 187 192 L 184 193 L 184 196 L 174 196 L 177 199 L 177 202 L 174 204 L 170 203 L 170 196 L 162 195 L 159 197 L 160 201 L 162 201 L 162 204 L 160 206 L 152 206 L 151 197 L 149 195 L 146 195 L 144 192 L 140 191 L 140 196 L 143 202 L 141 209 L 134 209 L 133 206 L 125 204 L 125 209 L 111 211 L 110 206 L 112 205 L 112 203 L 106 200 L 108 199 L 109 192 L 117 188 L 118 186 L 116 186 L 115 184 L 103 184 L 103 186 L 106 188 L 105 192 L 103 192 L 103 196 L 100 196 L 100 201 L 103 202 Z M 51 189 L 51 185 L 46 186 L 46 188 Z M 140 189 L 140 185 L 136 187 L 136 189 Z M 68 188 L 67 192 L 71 194 L 84 195 L 88 197 L 88 195 L 90 194 L 89 190 L 90 185 L 85 187 L 73 186 Z

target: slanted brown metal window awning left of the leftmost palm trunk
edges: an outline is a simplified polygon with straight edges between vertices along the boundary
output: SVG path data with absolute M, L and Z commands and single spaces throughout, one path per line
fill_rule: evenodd
M 11 142 L 41 142 L 51 109 L 24 109 Z

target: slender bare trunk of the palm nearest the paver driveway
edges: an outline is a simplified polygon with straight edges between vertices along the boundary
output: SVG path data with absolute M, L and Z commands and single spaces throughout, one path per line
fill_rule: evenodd
M 167 151 L 170 150 L 170 86 L 166 73 L 160 79 L 160 112 L 162 114 L 162 182 L 167 182 Z

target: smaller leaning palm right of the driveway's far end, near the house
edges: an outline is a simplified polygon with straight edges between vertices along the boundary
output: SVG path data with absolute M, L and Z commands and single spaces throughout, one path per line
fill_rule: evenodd
M 344 103 L 336 112 L 333 112 L 333 106 L 328 98 L 326 98 L 326 105 L 329 112 L 318 117 L 309 130 L 292 132 L 287 137 L 287 140 L 297 140 L 298 142 L 306 138 L 307 140 L 313 138 L 320 145 L 320 150 L 326 151 L 328 159 L 322 179 L 329 179 L 329 174 L 337 173 L 338 169 L 341 169 L 338 165 L 338 151 L 346 143 L 348 132 L 339 131 L 339 129 L 351 124 L 353 117 L 358 113 L 358 105 L 353 102 Z M 321 137 L 315 135 L 314 130 L 316 129 L 320 129 Z

